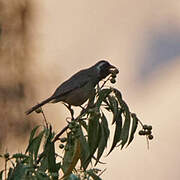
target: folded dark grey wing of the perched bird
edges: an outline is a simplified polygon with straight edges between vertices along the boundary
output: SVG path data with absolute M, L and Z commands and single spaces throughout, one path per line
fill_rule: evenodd
M 74 74 L 72 77 L 70 77 L 67 81 L 62 83 L 54 92 L 52 97 L 58 97 L 62 96 L 64 94 L 67 94 L 77 88 L 81 88 L 84 85 L 86 85 L 90 80 L 91 77 L 88 76 L 88 69 L 81 70 Z

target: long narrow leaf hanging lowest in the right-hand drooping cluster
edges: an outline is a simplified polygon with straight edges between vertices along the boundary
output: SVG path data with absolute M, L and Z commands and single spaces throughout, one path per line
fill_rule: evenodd
M 112 143 L 111 149 L 107 155 L 109 155 L 112 152 L 112 150 L 115 148 L 116 144 L 118 142 L 120 142 L 120 140 L 121 140 L 121 131 L 122 131 L 122 116 L 121 115 L 122 115 L 122 111 L 119 110 L 118 118 L 115 121 L 116 127 L 115 127 L 115 132 L 114 132 L 113 143 Z

